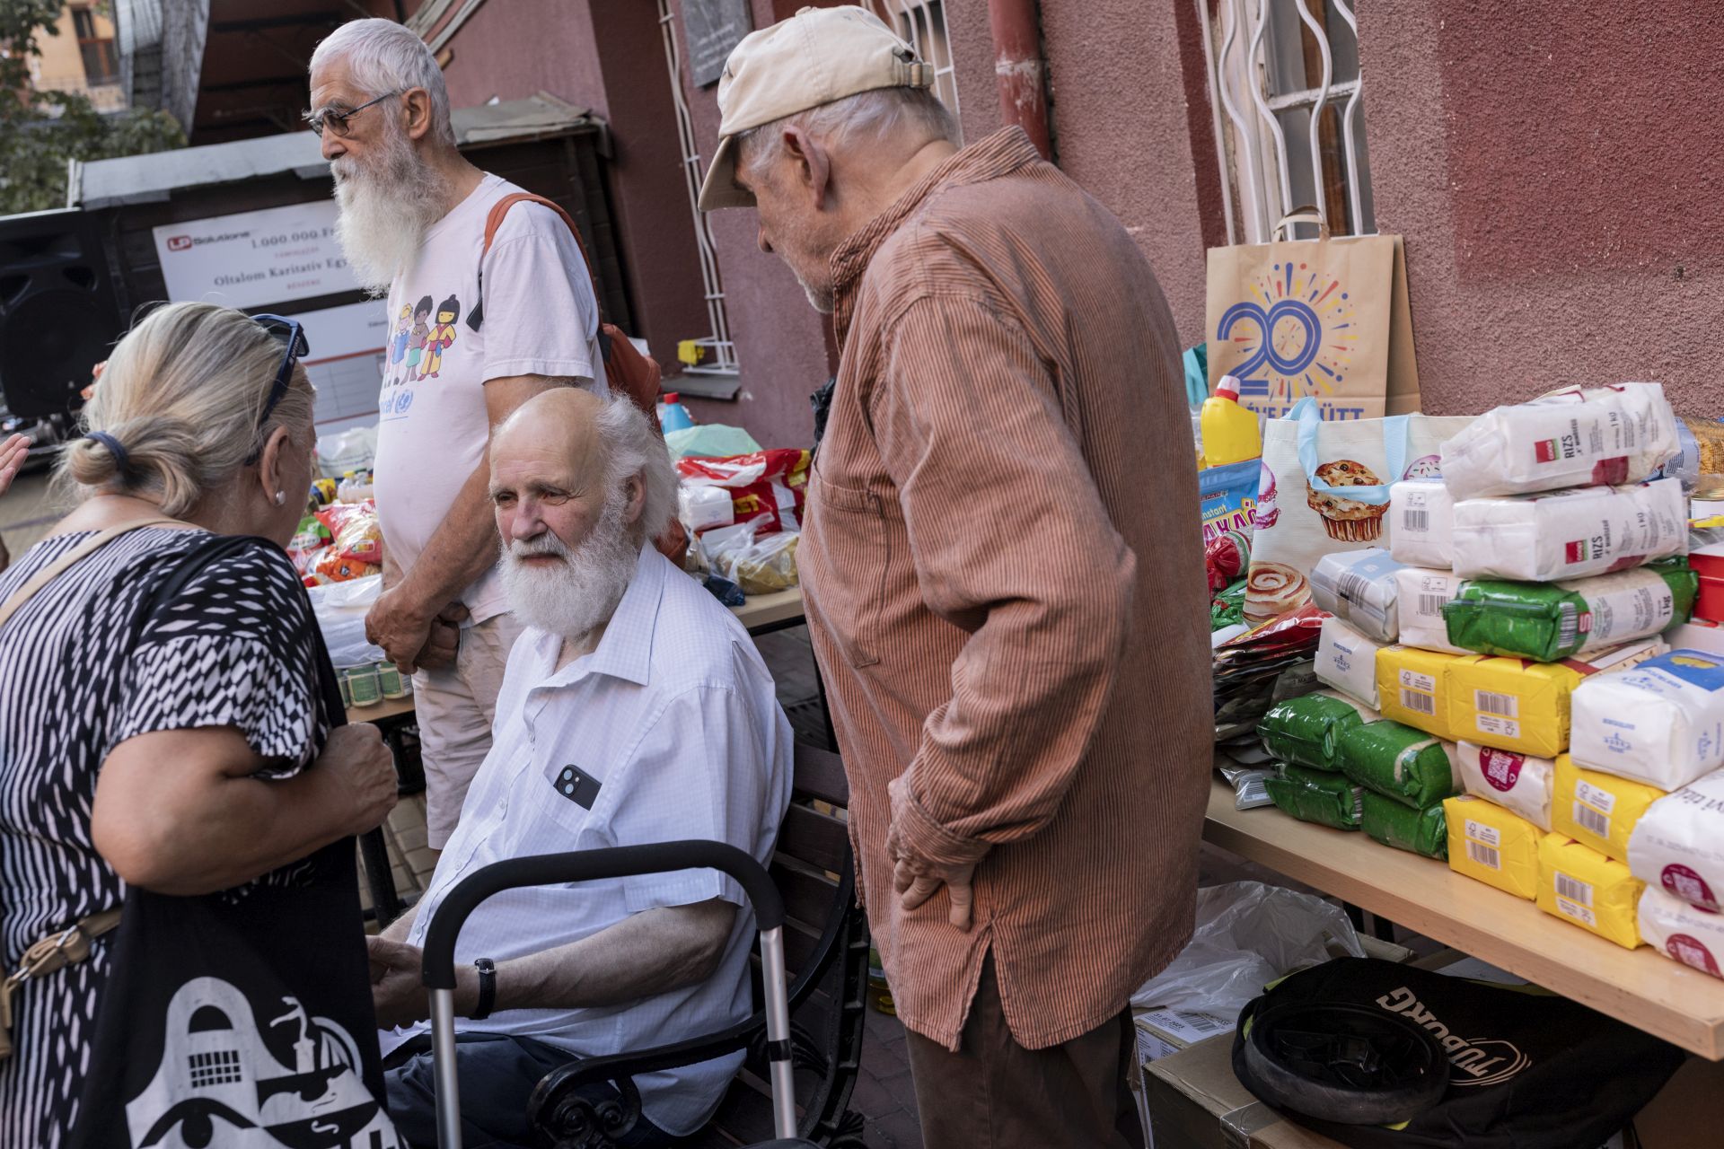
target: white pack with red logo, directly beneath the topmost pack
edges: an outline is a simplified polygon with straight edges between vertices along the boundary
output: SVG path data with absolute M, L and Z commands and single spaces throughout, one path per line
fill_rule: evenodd
M 1455 503 L 1455 574 L 1553 582 L 1688 553 L 1679 479 Z

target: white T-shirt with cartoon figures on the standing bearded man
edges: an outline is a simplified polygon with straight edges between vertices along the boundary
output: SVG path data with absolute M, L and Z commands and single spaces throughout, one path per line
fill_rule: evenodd
M 515 191 L 486 176 L 426 233 L 417 262 L 390 286 L 372 488 L 384 544 L 403 572 L 484 456 L 490 379 L 576 377 L 605 389 L 591 277 L 569 226 L 540 203 L 517 203 L 503 217 L 484 255 L 483 324 L 469 326 L 484 219 Z M 472 622 L 509 610 L 495 568 L 460 601 Z

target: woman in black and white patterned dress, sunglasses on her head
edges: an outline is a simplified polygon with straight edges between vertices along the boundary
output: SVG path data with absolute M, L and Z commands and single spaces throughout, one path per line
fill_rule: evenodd
M 305 353 L 152 312 L 57 463 L 76 510 L 0 575 L 0 1149 L 398 1144 L 352 844 L 395 772 L 281 550 Z

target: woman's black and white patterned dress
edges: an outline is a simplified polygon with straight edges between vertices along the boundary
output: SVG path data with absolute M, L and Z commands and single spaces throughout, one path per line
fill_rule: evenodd
M 0 574 L 0 601 L 86 537 L 38 543 Z M 178 560 L 205 539 L 160 527 L 121 536 L 0 629 L 0 960 L 9 972 L 43 934 L 124 897 L 124 882 L 90 841 L 97 772 L 116 744 L 157 730 L 234 727 L 271 760 L 271 777 L 288 777 L 328 739 L 315 620 L 279 551 L 259 546 L 214 562 L 179 598 L 140 618 Z M 293 882 L 293 870 L 259 882 Z M 90 961 L 14 997 L 16 1053 L 0 1061 L 0 1149 L 57 1149 L 71 1128 L 107 941 L 95 942 Z

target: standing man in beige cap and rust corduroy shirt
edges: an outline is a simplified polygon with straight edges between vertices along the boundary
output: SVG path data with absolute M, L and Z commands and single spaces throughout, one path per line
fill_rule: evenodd
M 926 1140 L 1117 1146 L 1210 773 L 1177 338 L 1119 220 L 929 81 L 862 9 L 752 34 L 702 207 L 757 205 L 843 348 L 798 562 Z

